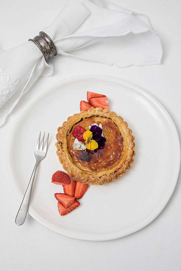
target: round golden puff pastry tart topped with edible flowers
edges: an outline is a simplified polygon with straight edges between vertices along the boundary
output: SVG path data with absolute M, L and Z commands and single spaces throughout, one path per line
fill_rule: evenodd
M 91 107 L 74 114 L 57 131 L 55 146 L 59 161 L 75 180 L 103 185 L 124 175 L 133 163 L 132 130 L 123 118 L 108 109 Z

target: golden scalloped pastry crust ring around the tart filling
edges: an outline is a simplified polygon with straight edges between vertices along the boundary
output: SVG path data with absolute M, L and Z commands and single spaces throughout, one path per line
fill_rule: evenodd
M 92 173 L 82 170 L 74 164 L 73 159 L 68 152 L 67 138 L 74 126 L 79 125 L 80 121 L 85 118 L 99 116 L 108 118 L 117 125 L 123 138 L 124 154 L 112 169 Z M 128 128 L 128 124 L 123 121 L 123 118 L 117 116 L 115 112 L 111 112 L 109 109 L 91 107 L 88 111 L 81 111 L 79 114 L 74 114 L 73 116 L 68 117 L 67 121 L 65 121 L 61 127 L 58 127 L 57 132 L 57 142 L 55 143 L 55 146 L 57 147 L 56 153 L 59 157 L 59 161 L 68 175 L 73 176 L 75 180 L 91 185 L 95 185 L 96 183 L 98 185 L 103 185 L 105 182 L 110 183 L 113 180 L 117 180 L 119 176 L 124 175 L 125 171 L 130 169 L 130 165 L 133 163 L 133 157 L 135 156 L 135 137 L 132 135 L 132 130 Z

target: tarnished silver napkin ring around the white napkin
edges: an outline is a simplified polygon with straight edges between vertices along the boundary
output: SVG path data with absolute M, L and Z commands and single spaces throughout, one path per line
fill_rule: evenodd
M 52 56 L 57 55 L 57 48 L 54 42 L 45 32 L 40 31 L 39 35 L 29 38 L 29 40 L 33 41 L 39 47 L 46 62 Z

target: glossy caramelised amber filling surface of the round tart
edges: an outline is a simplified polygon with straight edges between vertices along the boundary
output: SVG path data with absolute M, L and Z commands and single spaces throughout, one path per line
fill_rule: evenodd
M 80 169 L 97 173 L 107 169 L 112 169 L 119 160 L 123 157 L 124 148 L 122 142 L 122 136 L 117 128 L 117 125 L 105 118 L 92 117 L 91 119 L 84 119 L 79 124 L 86 130 L 89 130 L 89 126 L 93 123 L 102 124 L 104 137 L 106 138 L 106 144 L 103 149 L 98 149 L 96 153 L 89 153 L 89 150 L 79 151 L 73 149 L 73 136 L 72 133 L 67 138 L 68 151 L 71 155 L 74 164 Z M 73 127 L 74 128 L 74 127 Z

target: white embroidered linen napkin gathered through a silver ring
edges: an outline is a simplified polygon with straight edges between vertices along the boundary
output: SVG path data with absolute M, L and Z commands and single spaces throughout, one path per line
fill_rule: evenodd
M 42 31 L 63 56 L 117 67 L 161 63 L 161 41 L 148 18 L 104 0 L 67 0 Z M 0 126 L 36 79 L 52 74 L 50 62 L 32 41 L 0 51 Z

